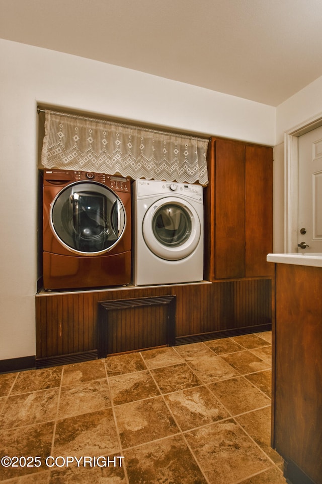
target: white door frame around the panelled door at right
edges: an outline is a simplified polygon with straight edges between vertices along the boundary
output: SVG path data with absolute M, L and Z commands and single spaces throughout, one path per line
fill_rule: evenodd
M 322 113 L 284 133 L 284 252 L 297 252 L 298 138 L 322 126 Z

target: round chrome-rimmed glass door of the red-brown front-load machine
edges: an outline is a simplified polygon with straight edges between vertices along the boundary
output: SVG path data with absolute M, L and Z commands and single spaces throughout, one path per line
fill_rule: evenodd
M 125 223 L 122 201 L 95 181 L 68 185 L 51 205 L 53 233 L 76 254 L 95 256 L 108 252 L 122 236 Z

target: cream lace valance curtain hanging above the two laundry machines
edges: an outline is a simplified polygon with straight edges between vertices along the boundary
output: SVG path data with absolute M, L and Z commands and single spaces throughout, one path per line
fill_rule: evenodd
M 45 111 L 45 168 L 207 185 L 208 140 Z

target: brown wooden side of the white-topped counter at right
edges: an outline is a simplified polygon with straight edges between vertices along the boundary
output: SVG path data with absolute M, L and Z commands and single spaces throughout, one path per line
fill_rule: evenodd
M 276 264 L 274 437 L 322 483 L 322 269 Z

